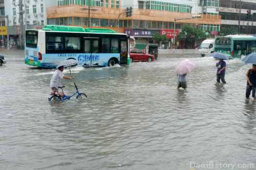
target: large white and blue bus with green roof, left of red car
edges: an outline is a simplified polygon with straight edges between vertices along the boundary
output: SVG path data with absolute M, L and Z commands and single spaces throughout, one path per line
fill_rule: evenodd
M 129 37 L 109 29 L 70 26 L 26 30 L 26 64 L 55 68 L 67 59 L 84 67 L 129 65 Z

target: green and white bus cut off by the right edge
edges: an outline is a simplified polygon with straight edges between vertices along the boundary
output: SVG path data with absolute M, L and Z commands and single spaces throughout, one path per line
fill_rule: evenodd
M 241 58 L 256 52 L 256 38 L 250 35 L 228 35 L 215 38 L 215 52 Z

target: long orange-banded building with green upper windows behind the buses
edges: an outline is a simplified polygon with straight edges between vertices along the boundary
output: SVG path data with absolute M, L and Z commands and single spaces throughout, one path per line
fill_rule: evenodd
M 218 32 L 221 18 L 218 15 L 219 0 L 91 0 L 91 27 L 111 28 L 134 36 L 137 42 L 152 41 L 152 33 L 158 32 L 174 37 L 174 20 L 179 20 L 177 29 L 184 25 Z M 125 8 L 133 7 L 132 17 L 125 16 Z M 88 1 L 57 0 L 57 6 L 47 9 L 48 24 L 87 27 Z M 191 18 L 193 14 L 201 18 Z M 119 15 L 120 14 L 120 15 Z M 169 46 L 171 46 L 169 44 Z

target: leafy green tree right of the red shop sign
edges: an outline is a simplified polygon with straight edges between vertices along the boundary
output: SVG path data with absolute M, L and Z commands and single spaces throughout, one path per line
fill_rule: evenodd
M 178 36 L 179 39 L 186 40 L 185 48 L 187 48 L 188 44 L 191 44 L 193 41 L 199 38 L 205 39 L 206 37 L 207 37 L 206 34 L 202 30 L 191 27 L 190 25 L 185 25 Z

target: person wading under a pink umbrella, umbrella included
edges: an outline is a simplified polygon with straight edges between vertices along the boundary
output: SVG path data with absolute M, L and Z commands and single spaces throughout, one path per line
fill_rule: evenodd
M 183 89 L 187 88 L 186 76 L 189 72 L 196 68 L 196 64 L 190 60 L 183 60 L 177 65 L 175 73 L 178 77 L 178 89 L 182 87 Z

